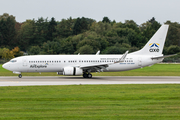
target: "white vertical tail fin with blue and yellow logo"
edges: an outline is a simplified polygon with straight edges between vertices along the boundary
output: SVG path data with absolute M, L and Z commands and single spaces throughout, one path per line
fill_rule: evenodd
M 162 25 L 147 44 L 131 55 L 162 55 L 169 25 Z

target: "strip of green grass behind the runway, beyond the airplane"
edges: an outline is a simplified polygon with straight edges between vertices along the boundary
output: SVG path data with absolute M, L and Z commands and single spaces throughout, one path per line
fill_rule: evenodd
M 23 76 L 58 76 L 54 73 L 22 73 Z M 17 76 L 0 65 L 0 76 Z M 93 76 L 180 76 L 180 64 L 155 64 L 151 67 L 122 72 L 93 73 Z

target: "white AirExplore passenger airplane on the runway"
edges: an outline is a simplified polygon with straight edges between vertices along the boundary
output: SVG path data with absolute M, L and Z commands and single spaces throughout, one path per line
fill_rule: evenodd
M 126 71 L 161 62 L 169 25 L 162 25 L 148 43 L 139 51 L 123 55 L 30 55 L 11 59 L 3 68 L 19 74 L 23 72 L 57 72 L 59 75 L 83 75 L 91 78 L 91 72 Z

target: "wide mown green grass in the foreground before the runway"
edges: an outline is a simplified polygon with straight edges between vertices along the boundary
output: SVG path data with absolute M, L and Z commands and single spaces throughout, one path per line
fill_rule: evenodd
M 0 119 L 179 120 L 180 86 L 0 87 Z

